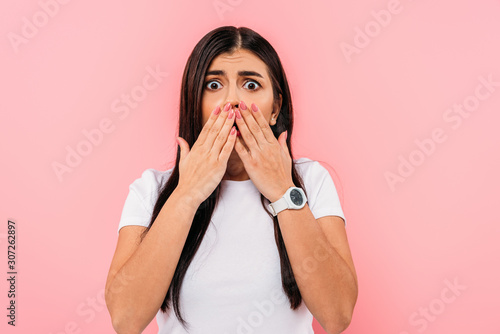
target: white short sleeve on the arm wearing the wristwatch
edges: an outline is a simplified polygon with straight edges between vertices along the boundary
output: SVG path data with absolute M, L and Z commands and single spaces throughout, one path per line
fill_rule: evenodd
M 344 220 L 346 226 L 337 189 L 328 170 L 318 161 L 311 160 L 306 180 L 307 202 L 314 218 L 338 216 Z

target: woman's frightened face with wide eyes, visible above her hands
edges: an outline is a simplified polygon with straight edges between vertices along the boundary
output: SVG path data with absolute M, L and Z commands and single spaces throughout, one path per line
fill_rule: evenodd
M 269 125 L 276 124 L 281 95 L 278 106 L 273 110 L 273 87 L 267 75 L 267 65 L 245 49 L 239 49 L 232 55 L 220 54 L 210 64 L 202 95 L 203 124 L 216 106 L 223 110 L 226 103 L 230 102 L 232 107 L 238 105 L 239 108 L 241 101 L 248 108 L 255 103 Z

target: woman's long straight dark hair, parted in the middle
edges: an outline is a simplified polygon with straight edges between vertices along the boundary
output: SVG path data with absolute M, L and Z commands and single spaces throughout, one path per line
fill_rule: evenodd
M 292 157 L 292 179 L 297 187 L 301 187 L 304 191 L 306 191 L 302 178 L 299 173 L 297 173 L 295 162 L 293 161 L 291 149 L 291 140 L 293 138 L 293 108 L 285 72 L 278 54 L 271 44 L 269 44 L 269 42 L 258 33 L 249 28 L 236 28 L 233 26 L 219 27 L 210 31 L 198 42 L 198 44 L 196 44 L 187 60 L 182 77 L 179 107 L 179 136 L 188 142 L 189 147 L 192 147 L 195 143 L 201 129 L 203 128 L 201 100 L 205 73 L 215 57 L 222 53 L 231 54 L 237 49 L 245 49 L 253 52 L 267 65 L 268 75 L 271 78 L 273 86 L 274 105 L 276 108 L 279 107 L 279 95 L 281 94 L 282 96 L 281 110 L 278 114 L 276 124 L 271 126 L 271 129 L 273 130 L 276 138 L 278 138 L 283 131 L 288 131 L 286 142 L 290 156 Z M 175 167 L 173 168 L 168 181 L 159 189 L 158 200 L 153 209 L 149 227 L 141 235 L 141 240 L 147 234 L 156 217 L 160 213 L 161 208 L 177 187 L 179 182 L 179 160 L 180 148 L 178 147 Z M 203 240 L 205 231 L 208 228 L 212 213 L 219 198 L 219 192 L 220 184 L 196 211 L 186 243 L 182 249 L 177 267 L 175 268 L 172 282 L 170 283 L 165 300 L 161 305 L 162 312 L 167 312 L 167 309 L 170 307 L 170 297 L 172 297 L 175 314 L 184 327 L 186 326 L 186 321 L 182 318 L 179 310 L 179 294 L 182 281 L 189 264 L 191 263 Z M 295 310 L 302 303 L 302 296 L 292 272 L 285 244 L 281 236 L 278 218 L 273 217 L 273 215 L 266 208 L 265 197 L 262 194 L 261 203 L 274 222 L 274 237 L 280 256 L 282 286 L 290 301 L 290 308 Z

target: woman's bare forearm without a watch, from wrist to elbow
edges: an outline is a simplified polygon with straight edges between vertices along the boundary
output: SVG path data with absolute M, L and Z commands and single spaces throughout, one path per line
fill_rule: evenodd
M 113 327 L 141 333 L 161 307 L 199 206 L 176 188 L 137 250 L 106 289 Z

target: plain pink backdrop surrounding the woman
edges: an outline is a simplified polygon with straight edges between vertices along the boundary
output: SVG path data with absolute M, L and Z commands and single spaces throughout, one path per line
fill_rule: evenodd
M 331 167 L 359 276 L 345 333 L 500 333 L 499 1 L 69 1 L 43 14 L 54 1 L 0 5 L 2 276 L 8 219 L 19 273 L 15 329 L 1 280 L 0 331 L 113 332 L 103 292 L 128 186 L 174 162 L 187 57 L 208 31 L 236 25 L 282 59 L 295 158 Z M 372 11 L 388 8 L 390 22 L 377 23 Z M 24 18 L 40 27 L 15 46 Z M 358 53 L 346 56 L 347 44 Z M 168 76 L 114 113 L 148 67 Z M 53 163 L 106 119 L 113 131 L 59 179 Z M 391 187 L 400 159 L 413 170 Z M 156 330 L 154 319 L 145 333 Z

